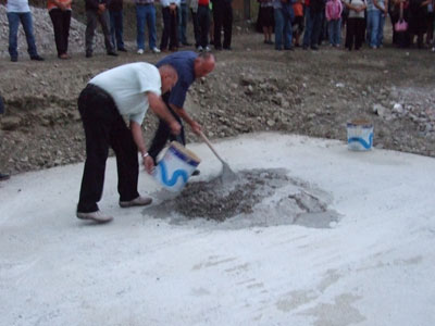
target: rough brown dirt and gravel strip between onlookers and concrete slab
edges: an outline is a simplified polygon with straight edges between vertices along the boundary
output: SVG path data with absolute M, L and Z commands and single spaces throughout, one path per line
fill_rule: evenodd
M 348 52 L 275 51 L 262 35 L 235 28 L 233 51 L 215 52 L 215 71 L 190 88 L 186 109 L 211 139 L 281 130 L 346 140 L 346 122 L 374 124 L 374 147 L 435 156 L 435 55 L 428 50 L 363 48 Z M 165 54 L 97 53 L 70 61 L 0 59 L 0 171 L 12 174 L 85 160 L 76 100 L 96 74 L 129 62 L 156 63 Z M 183 50 L 194 50 L 184 48 Z M 149 142 L 156 118 L 144 124 Z M 188 127 L 187 127 L 188 128 Z M 188 133 L 190 141 L 200 141 Z M 276 149 L 278 150 L 278 149 Z M 223 153 L 224 154 L 224 153 Z

